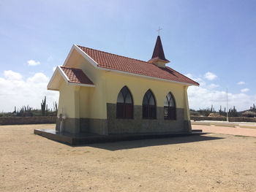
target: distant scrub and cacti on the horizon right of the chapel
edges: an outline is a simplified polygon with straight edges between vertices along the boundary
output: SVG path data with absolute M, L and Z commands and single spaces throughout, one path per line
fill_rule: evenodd
M 211 108 L 206 109 L 199 109 L 199 110 L 192 110 L 190 109 L 190 115 L 194 116 L 211 116 L 211 117 L 227 117 L 227 111 L 226 107 L 224 107 L 224 110 L 222 110 L 222 106 L 219 107 L 219 110 L 215 110 L 213 105 L 211 105 Z M 256 107 L 255 104 L 252 104 L 252 107 L 250 107 L 249 110 L 238 112 L 236 110 L 236 107 L 230 108 L 228 110 L 228 116 L 229 117 L 246 117 L 246 118 L 255 118 L 256 117 Z

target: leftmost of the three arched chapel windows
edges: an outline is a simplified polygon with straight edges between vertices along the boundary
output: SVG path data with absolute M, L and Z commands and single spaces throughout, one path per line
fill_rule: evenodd
M 116 102 L 116 118 L 133 118 L 132 94 L 127 86 L 121 88 Z

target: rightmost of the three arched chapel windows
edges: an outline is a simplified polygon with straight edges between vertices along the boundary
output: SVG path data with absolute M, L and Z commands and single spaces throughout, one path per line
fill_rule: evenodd
M 176 104 L 172 93 L 168 93 L 165 96 L 165 119 L 176 120 Z

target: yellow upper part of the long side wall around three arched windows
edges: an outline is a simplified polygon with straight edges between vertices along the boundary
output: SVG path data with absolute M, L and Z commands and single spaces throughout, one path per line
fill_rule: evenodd
M 165 96 L 171 92 L 176 100 L 176 107 L 184 108 L 184 85 L 114 72 L 106 72 L 108 103 L 116 103 L 118 93 L 124 85 L 131 91 L 135 105 L 142 105 L 144 94 L 151 89 L 157 100 L 157 107 L 164 107 Z

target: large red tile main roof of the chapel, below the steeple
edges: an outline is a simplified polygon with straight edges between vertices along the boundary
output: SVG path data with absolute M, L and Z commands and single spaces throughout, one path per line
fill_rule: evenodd
M 148 77 L 157 77 L 163 80 L 199 85 L 197 82 L 189 79 L 183 74 L 176 72 L 170 67 L 161 68 L 146 61 L 140 61 L 134 58 L 127 58 L 121 55 L 106 53 L 104 51 L 94 50 L 79 45 L 78 47 L 83 50 L 84 53 L 89 55 L 94 61 L 96 61 L 98 66 L 102 68 L 115 69 L 122 72 L 140 74 Z

